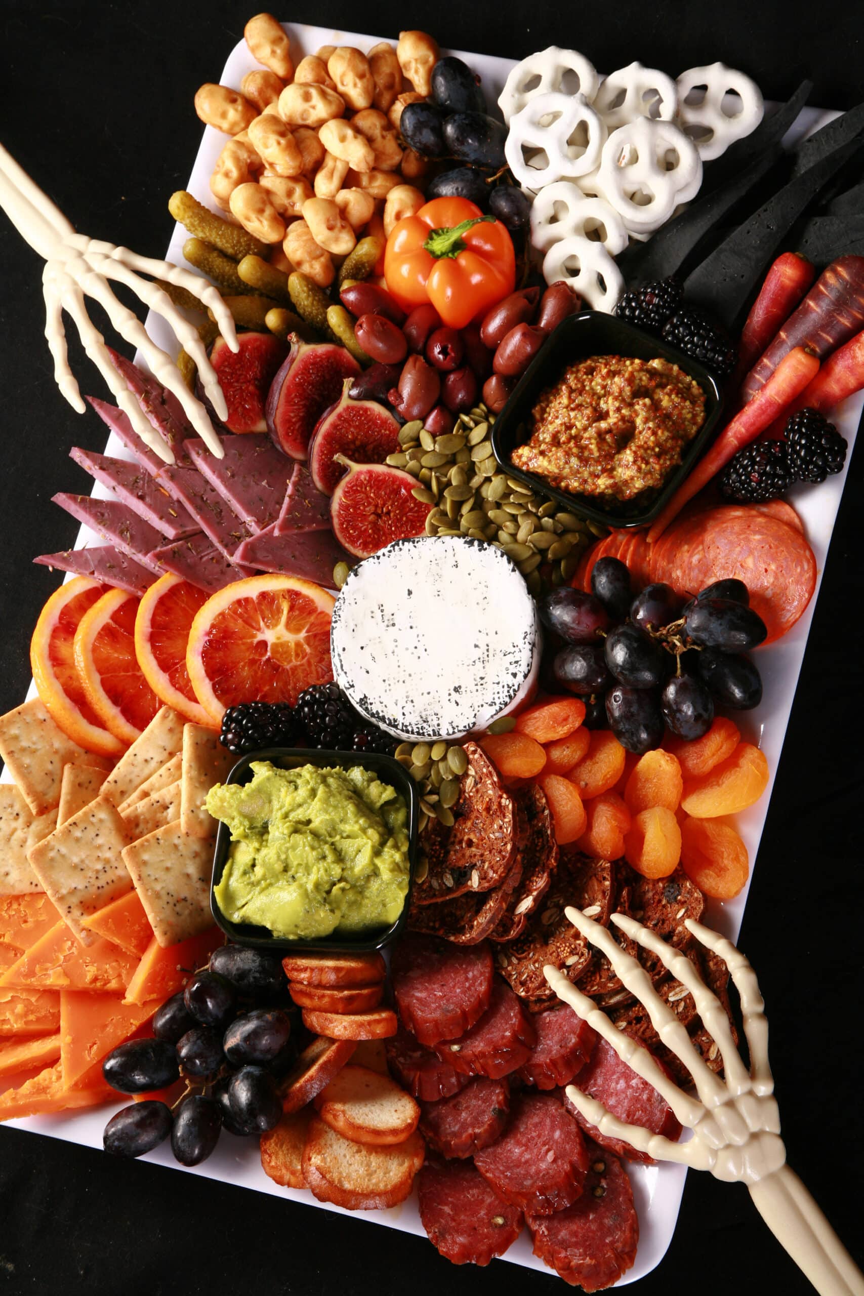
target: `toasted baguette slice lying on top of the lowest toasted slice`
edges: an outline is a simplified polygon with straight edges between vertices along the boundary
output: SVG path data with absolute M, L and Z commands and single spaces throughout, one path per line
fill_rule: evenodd
M 417 1129 L 420 1107 L 390 1076 L 343 1067 L 315 1099 L 325 1125 L 355 1143 L 404 1143 Z

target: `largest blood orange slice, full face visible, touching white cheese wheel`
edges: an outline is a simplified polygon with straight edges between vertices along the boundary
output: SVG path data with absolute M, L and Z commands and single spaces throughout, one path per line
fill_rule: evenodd
M 290 702 L 333 679 L 326 590 L 289 575 L 253 575 L 219 590 L 192 622 L 187 667 L 211 723 L 238 702 Z

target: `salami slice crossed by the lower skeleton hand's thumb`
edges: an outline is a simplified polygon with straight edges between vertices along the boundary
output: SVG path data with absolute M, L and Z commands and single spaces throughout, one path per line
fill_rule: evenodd
M 677 1139 L 681 1134 L 672 1108 L 666 1099 L 657 1093 L 653 1085 L 637 1076 L 632 1067 L 618 1056 L 613 1046 L 597 1037 L 591 1060 L 583 1067 L 573 1082 L 576 1089 L 589 1098 L 596 1098 L 608 1112 L 617 1116 L 619 1121 L 628 1125 L 641 1125 L 652 1134 L 665 1134 L 666 1138 Z M 563 1105 L 575 1116 L 585 1134 L 609 1148 L 615 1156 L 626 1156 L 630 1161 L 641 1161 L 644 1165 L 653 1165 L 653 1159 L 645 1152 L 637 1152 L 635 1147 L 623 1139 L 601 1134 L 591 1125 L 584 1116 L 570 1102 L 566 1093 L 561 1094 Z

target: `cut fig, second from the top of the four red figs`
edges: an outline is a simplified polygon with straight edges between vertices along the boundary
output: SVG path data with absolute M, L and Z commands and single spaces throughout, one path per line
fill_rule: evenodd
M 267 397 L 267 430 L 291 459 L 307 459 L 316 424 L 339 399 L 345 378 L 360 365 L 342 346 L 291 338 L 291 350 Z

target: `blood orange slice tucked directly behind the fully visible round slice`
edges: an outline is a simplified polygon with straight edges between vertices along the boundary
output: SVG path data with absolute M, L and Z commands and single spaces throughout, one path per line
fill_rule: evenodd
M 206 601 L 203 590 L 168 572 L 142 596 L 135 617 L 135 654 L 144 678 L 161 702 L 196 724 L 212 724 L 187 670 L 189 631 Z

